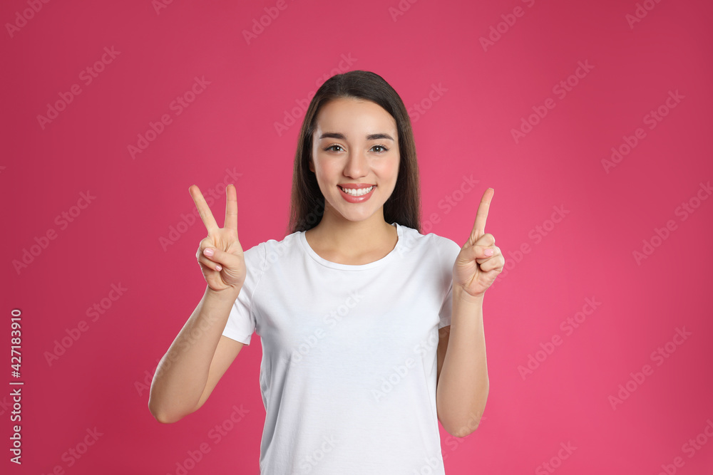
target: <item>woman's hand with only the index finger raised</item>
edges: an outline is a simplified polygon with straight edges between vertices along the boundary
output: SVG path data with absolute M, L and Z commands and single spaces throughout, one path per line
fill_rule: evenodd
M 483 193 L 471 237 L 453 264 L 453 287 L 461 286 L 466 296 L 482 297 L 505 266 L 505 258 L 495 245 L 495 237 L 485 231 L 493 194 L 495 190 L 492 188 Z

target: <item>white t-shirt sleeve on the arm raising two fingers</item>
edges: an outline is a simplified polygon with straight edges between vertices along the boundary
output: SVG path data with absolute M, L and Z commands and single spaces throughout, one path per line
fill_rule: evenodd
M 245 256 L 245 282 L 242 283 L 240 294 L 230 307 L 230 316 L 225 323 L 222 334 L 232 340 L 250 345 L 250 338 L 255 331 L 255 315 L 252 312 L 252 296 L 257 284 L 260 283 L 265 269 L 265 243 L 257 244 L 243 252 Z

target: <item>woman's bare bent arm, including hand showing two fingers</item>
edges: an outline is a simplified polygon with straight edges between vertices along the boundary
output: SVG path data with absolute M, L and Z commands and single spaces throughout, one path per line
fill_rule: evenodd
M 195 253 L 208 285 L 153 375 L 148 409 L 158 422 L 176 422 L 197 410 L 242 348 L 242 343 L 222 337 L 230 307 L 247 276 L 237 239 L 235 186 L 225 187 L 222 228 L 218 228 L 200 189 L 194 184 L 188 192 L 208 232 Z

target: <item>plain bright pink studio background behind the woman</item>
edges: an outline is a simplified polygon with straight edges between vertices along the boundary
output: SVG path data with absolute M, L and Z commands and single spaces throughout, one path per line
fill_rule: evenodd
M 710 473 L 710 2 L 647 0 L 632 26 L 633 0 L 237 3 L 3 2 L 0 471 L 180 474 L 205 444 L 188 474 L 258 473 L 260 338 L 198 412 L 163 425 L 148 411 L 143 383 L 205 289 L 195 261 L 205 229 L 180 224 L 195 208 L 188 187 L 215 189 L 222 223 L 225 180 L 235 182 L 244 249 L 282 239 L 299 103 L 332 74 L 364 69 L 411 111 L 427 231 L 462 244 L 483 191 L 495 189 L 486 231 L 507 271 L 484 304 L 491 390 L 476 432 L 455 439 L 441 429 L 447 473 Z M 517 7 L 521 16 L 508 16 Z M 279 16 L 248 44 L 242 31 L 265 8 Z M 497 41 L 483 47 L 489 34 Z M 102 56 L 87 84 L 82 71 Z M 177 115 L 171 103 L 196 77 L 210 84 Z M 572 87 L 558 92 L 568 77 Z M 41 125 L 74 84 L 81 93 Z M 660 106 L 665 117 L 651 122 Z M 533 107 L 547 114 L 515 140 Z M 133 158 L 128 146 L 164 114 L 170 124 Z M 612 147 L 626 152 L 625 136 L 636 146 L 606 169 Z M 479 180 L 467 194 L 463 175 Z M 95 198 L 86 204 L 82 193 Z M 162 244 L 172 226 L 178 239 Z M 25 251 L 36 255 L 18 271 Z M 126 289 L 116 301 L 112 285 Z M 102 301 L 103 313 L 87 314 Z M 19 379 L 9 368 L 13 308 Z M 677 329 L 689 335 L 674 338 Z M 78 331 L 50 364 L 56 341 Z M 523 372 L 530 355 L 534 369 Z M 17 380 L 21 466 L 9 462 Z M 232 426 L 234 405 L 247 414 Z M 217 440 L 222 424 L 231 429 Z

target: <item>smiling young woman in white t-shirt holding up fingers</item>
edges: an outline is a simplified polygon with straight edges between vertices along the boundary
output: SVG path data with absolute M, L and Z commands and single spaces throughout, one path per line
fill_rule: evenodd
M 149 408 L 176 422 L 260 335 L 261 474 L 443 474 L 438 421 L 465 437 L 488 397 L 483 294 L 505 260 L 485 224 L 462 247 L 420 233 L 409 116 L 368 71 L 335 75 L 297 142 L 287 236 L 242 251 L 235 187 L 196 254 L 205 295 L 160 361 Z

